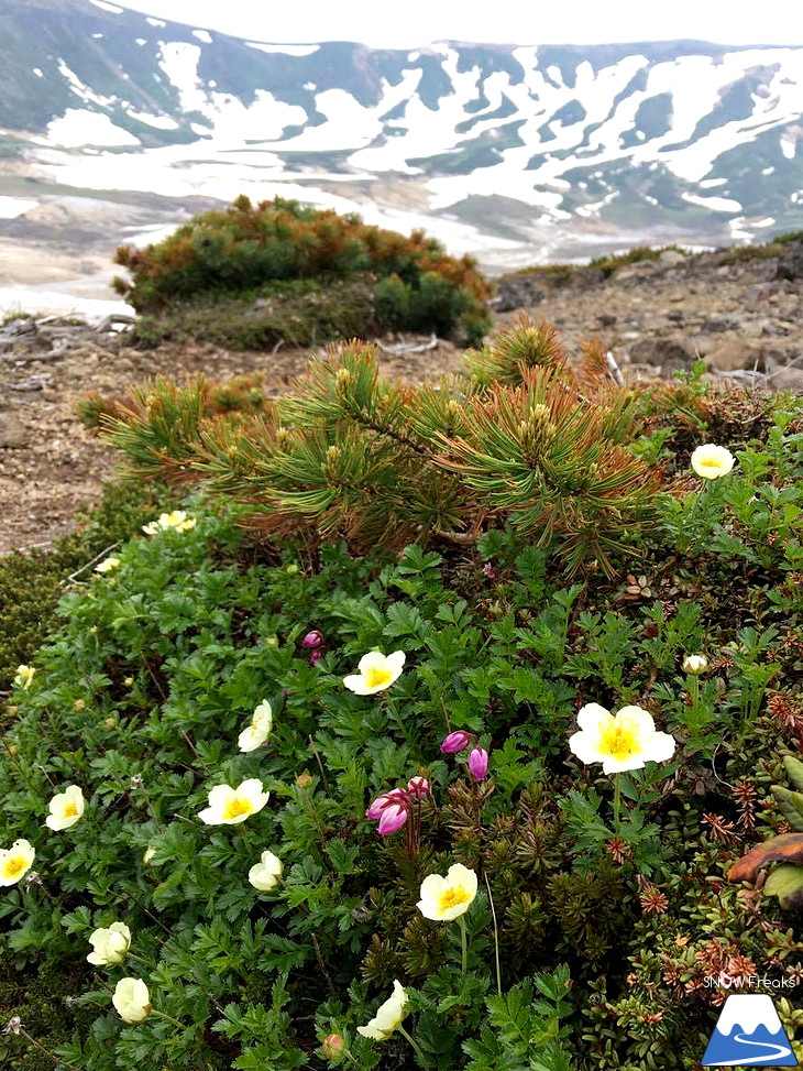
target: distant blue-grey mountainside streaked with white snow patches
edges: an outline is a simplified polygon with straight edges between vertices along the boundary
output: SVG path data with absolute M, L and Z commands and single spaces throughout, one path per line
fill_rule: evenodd
M 0 0 L 0 164 L 20 153 L 82 189 L 356 210 L 492 269 L 763 240 L 803 227 L 803 47 L 274 45 Z

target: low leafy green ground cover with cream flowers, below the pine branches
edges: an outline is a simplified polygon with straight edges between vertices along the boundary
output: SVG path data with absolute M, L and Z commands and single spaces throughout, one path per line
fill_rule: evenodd
M 74 583 L 0 751 L 0 850 L 35 851 L 0 857 L 7 1058 L 33 1038 L 81 1071 L 694 1067 L 723 973 L 803 975 L 795 917 L 726 877 L 782 829 L 779 754 L 803 740 L 801 408 L 774 398 L 735 457 L 701 435 L 708 479 L 667 459 L 685 490 L 657 496 L 638 575 L 614 555 L 613 580 L 569 582 L 510 524 L 443 553 L 260 548 L 245 506 L 196 498 Z M 590 704 L 648 712 L 654 761 L 601 774 Z M 454 864 L 476 889 L 452 872 L 439 899 Z M 113 922 L 130 947 L 103 944 Z M 20 972 L 69 980 L 51 1036 Z M 127 977 L 147 997 L 116 1010 Z

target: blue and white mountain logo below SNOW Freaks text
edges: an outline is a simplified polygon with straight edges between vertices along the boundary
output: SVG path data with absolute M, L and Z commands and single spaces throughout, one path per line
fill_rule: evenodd
M 727 998 L 705 1050 L 703 1067 L 799 1067 L 771 996 L 738 993 Z

